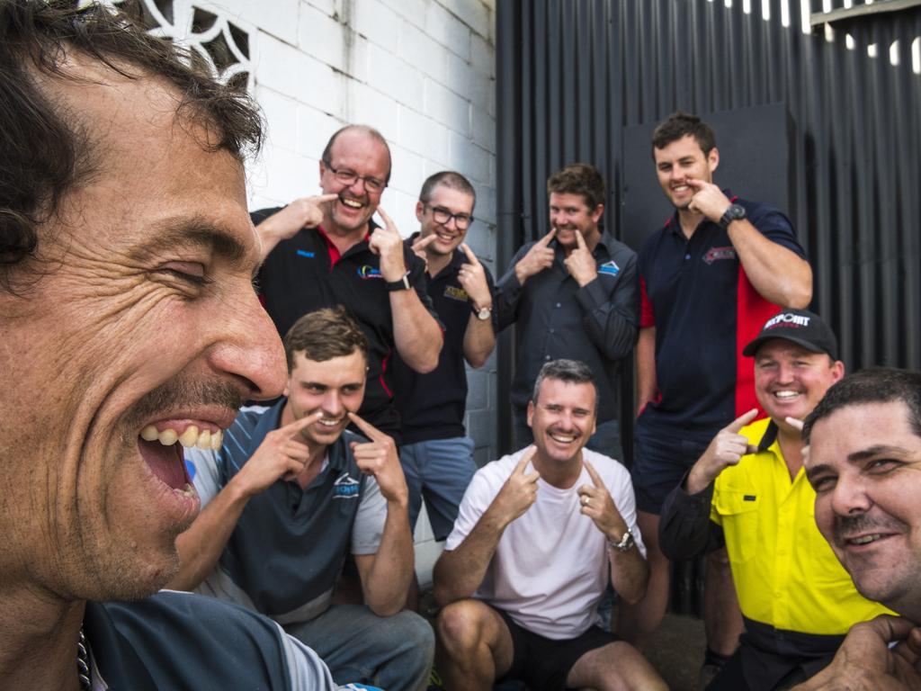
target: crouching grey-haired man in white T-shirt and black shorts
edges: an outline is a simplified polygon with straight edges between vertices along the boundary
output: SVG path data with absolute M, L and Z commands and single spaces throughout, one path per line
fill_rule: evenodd
M 437 669 L 450 691 L 520 679 L 535 691 L 664 689 L 649 663 L 598 626 L 610 578 L 646 591 L 630 474 L 584 449 L 595 431 L 589 367 L 554 360 L 528 405 L 533 445 L 474 475 L 435 566 Z

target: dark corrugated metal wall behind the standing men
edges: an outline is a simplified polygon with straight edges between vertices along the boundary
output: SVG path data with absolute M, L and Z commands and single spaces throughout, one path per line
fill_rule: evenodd
M 815 271 L 814 309 L 849 369 L 921 369 L 921 7 L 810 31 L 822 0 L 789 4 L 498 0 L 500 271 L 546 232 L 545 181 L 566 163 L 599 165 L 616 218 L 624 127 L 679 108 L 781 102 L 795 122 L 791 215 Z M 511 363 L 504 335 L 500 401 Z

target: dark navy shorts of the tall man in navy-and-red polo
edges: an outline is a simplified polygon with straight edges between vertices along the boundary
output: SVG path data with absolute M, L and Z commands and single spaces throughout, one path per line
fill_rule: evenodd
M 677 435 L 672 436 L 637 424 L 634 463 L 630 468 L 636 509 L 658 516 L 665 498 L 704 455 L 718 431 L 689 434 L 678 430 Z

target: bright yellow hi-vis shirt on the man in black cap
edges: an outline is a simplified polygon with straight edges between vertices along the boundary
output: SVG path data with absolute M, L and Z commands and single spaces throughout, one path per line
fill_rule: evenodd
M 790 481 L 769 422 L 742 428 L 759 451 L 717 476 L 710 504 L 710 520 L 726 538 L 742 614 L 787 631 L 833 635 L 892 614 L 857 592 L 819 533 L 815 491 L 802 468 Z

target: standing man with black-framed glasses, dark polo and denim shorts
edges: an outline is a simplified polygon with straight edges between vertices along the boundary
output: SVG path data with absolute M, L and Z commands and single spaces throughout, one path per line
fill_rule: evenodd
M 436 540 L 445 540 L 470 485 L 473 440 L 466 436 L 464 361 L 480 368 L 493 351 L 493 277 L 463 243 L 473 221 L 476 192 L 460 173 L 442 170 L 422 185 L 415 216 L 419 232 L 406 240 L 426 260 L 428 296 L 445 326 L 435 371 L 418 374 L 394 362 L 395 401 L 402 418 L 400 461 L 409 486 L 409 520 L 426 498 Z M 415 597 L 411 596 L 411 603 Z

